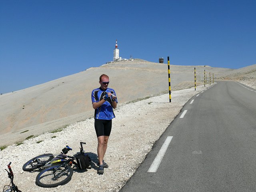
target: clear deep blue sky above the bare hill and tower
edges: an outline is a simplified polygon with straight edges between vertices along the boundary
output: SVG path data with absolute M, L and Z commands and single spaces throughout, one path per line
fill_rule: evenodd
M 256 64 L 256 0 L 0 0 L 0 93 L 122 58 Z

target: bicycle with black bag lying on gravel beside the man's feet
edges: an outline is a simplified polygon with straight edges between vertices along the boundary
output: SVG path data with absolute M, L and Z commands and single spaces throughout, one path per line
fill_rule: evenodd
M 45 167 L 46 164 L 44 166 L 41 166 L 41 168 L 45 168 L 40 171 L 36 176 L 36 184 L 40 187 L 57 187 L 59 185 L 64 185 L 68 183 L 73 175 L 72 164 L 78 166 L 79 169 L 83 170 L 91 168 L 91 159 L 88 154 L 84 152 L 82 144 L 86 143 L 80 142 L 80 152 L 74 154 L 73 156 L 64 155 L 65 158 L 68 159 L 64 159 L 63 154 L 61 154 L 50 160 L 50 163 L 48 163 L 49 161 L 47 162 L 47 166 L 51 164 L 52 166 Z M 26 164 L 29 164 L 28 162 Z M 34 160 L 34 162 L 36 161 Z

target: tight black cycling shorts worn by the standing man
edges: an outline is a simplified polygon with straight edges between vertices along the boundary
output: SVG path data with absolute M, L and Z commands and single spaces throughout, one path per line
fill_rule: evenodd
M 103 119 L 94 119 L 94 128 L 96 131 L 97 137 L 99 136 L 110 136 L 112 128 L 112 119 L 103 120 Z

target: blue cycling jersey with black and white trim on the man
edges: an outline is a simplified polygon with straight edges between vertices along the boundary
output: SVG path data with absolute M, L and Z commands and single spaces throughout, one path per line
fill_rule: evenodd
M 103 96 L 106 95 L 106 92 L 114 93 L 116 95 L 116 92 L 114 89 L 107 88 L 106 90 L 103 90 L 102 88 L 97 88 L 92 90 L 92 103 L 99 102 L 103 99 Z M 116 103 L 118 103 L 117 98 L 115 99 Z M 111 120 L 112 118 L 115 118 L 115 114 L 113 112 L 112 107 L 112 96 L 110 96 L 99 108 L 95 109 L 94 112 L 94 119 L 104 119 L 104 120 Z

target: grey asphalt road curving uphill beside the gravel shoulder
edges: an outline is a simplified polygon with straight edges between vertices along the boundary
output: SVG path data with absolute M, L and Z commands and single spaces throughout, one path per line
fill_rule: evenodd
M 256 90 L 223 81 L 196 94 L 120 191 L 255 192 Z

